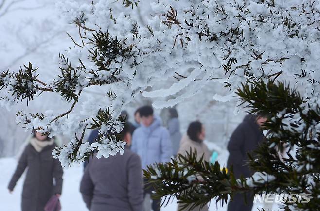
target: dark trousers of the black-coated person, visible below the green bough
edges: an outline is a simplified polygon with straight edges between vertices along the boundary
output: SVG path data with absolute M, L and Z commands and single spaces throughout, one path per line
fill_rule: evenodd
M 236 194 L 233 197 L 233 201 L 228 203 L 228 211 L 251 211 L 253 206 L 252 193 L 247 196 L 247 204 L 245 202 L 244 194 Z

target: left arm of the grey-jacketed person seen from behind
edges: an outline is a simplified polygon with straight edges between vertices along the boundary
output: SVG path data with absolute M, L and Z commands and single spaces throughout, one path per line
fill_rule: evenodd
M 83 201 L 85 202 L 87 208 L 90 210 L 91 208 L 91 201 L 93 198 L 93 190 L 94 185 L 92 182 L 92 179 L 89 174 L 90 169 L 90 162 L 82 176 L 81 182 L 80 182 L 80 193 L 82 195 Z

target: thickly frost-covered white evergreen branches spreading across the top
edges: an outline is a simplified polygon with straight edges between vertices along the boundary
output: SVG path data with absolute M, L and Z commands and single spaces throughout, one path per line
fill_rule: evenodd
M 241 84 L 287 79 L 303 87 L 302 101 L 308 105 L 304 108 L 317 113 L 317 0 L 69 0 L 57 7 L 78 32 L 78 37 L 68 34 L 73 47 L 56 57 L 60 73 L 45 83 L 31 64 L 18 72 L 3 71 L 0 86 L 8 94 L 0 102 L 10 108 L 20 99 L 28 102 L 42 92 L 53 92 L 71 104 L 63 114 L 17 114 L 17 122 L 26 129 L 50 136 L 74 134 L 67 146 L 53 152 L 63 166 L 83 161 L 94 150 L 104 157 L 123 153 L 124 142 L 117 133 L 124 119 L 119 114 L 140 92 L 144 97 L 168 97 L 183 91 L 168 101 L 155 101 L 153 106 L 161 108 L 192 97 L 209 83 L 230 91 L 225 97 L 212 93 L 214 99 L 226 101 Z M 146 91 L 172 77 L 177 81 L 168 89 Z M 75 111 L 83 92 L 96 86 L 105 97 L 87 100 Z M 277 116 L 287 109 L 277 111 Z M 302 117 L 290 114 L 282 121 L 293 131 L 291 123 Z M 314 121 L 317 128 L 318 120 Z M 100 128 L 93 145 L 83 140 L 88 128 Z M 302 125 L 299 131 L 303 130 Z

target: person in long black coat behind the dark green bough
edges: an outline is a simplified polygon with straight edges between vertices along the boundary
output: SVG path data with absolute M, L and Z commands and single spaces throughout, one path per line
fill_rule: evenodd
M 250 114 L 233 131 L 228 143 L 227 166 L 228 169 L 233 166 L 236 178 L 240 178 L 241 175 L 250 177 L 254 173 L 246 164 L 249 161 L 247 153 L 257 149 L 259 143 L 263 141 L 264 135 L 260 127 L 266 120 L 266 117 Z M 245 204 L 244 196 L 237 194 L 233 197 L 233 201 L 229 202 L 228 211 L 251 211 L 252 206 L 252 195 L 247 195 L 247 204 Z

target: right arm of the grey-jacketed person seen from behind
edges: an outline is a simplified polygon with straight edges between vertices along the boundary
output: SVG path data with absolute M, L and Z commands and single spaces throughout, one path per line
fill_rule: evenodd
M 128 196 L 132 211 L 142 211 L 143 179 L 142 166 L 138 155 L 134 154 L 128 161 Z

